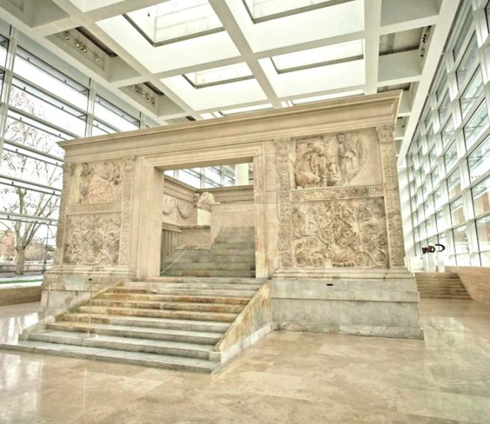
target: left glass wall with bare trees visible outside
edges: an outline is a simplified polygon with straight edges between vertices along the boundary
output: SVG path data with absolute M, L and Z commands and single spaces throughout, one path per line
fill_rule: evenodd
M 0 267 L 19 273 L 52 262 L 64 162 L 57 141 L 151 122 L 21 40 L 13 28 L 0 34 Z

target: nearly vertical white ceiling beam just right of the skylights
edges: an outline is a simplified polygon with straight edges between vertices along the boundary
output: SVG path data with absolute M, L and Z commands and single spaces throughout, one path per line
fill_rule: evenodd
M 380 55 L 381 0 L 364 5 L 364 61 L 366 62 L 366 94 L 378 91 L 378 59 Z

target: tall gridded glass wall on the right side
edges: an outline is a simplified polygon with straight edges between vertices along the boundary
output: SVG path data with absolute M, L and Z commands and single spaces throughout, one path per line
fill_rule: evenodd
M 490 1 L 461 12 L 407 154 L 414 242 L 490 266 Z

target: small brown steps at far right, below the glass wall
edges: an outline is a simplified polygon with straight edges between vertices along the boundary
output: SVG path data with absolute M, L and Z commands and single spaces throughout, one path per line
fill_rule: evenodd
M 421 298 L 471 300 L 455 272 L 416 272 Z

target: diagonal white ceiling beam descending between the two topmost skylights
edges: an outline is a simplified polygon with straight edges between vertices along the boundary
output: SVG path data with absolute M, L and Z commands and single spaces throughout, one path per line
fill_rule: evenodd
M 231 13 L 226 2 L 224 0 L 209 0 L 209 4 L 211 4 L 211 6 L 214 8 L 214 12 L 221 20 L 223 27 L 228 32 L 228 35 L 230 35 L 231 40 L 233 40 L 233 43 L 240 52 L 243 61 L 247 63 L 250 71 L 252 71 L 255 79 L 259 83 L 260 88 L 262 88 L 262 91 L 264 91 L 269 102 L 272 103 L 274 107 L 282 107 L 274 88 L 272 88 L 272 84 L 269 82 L 269 79 L 267 79 L 267 76 L 262 70 L 262 66 L 259 65 L 255 54 L 252 52 L 245 35 L 243 35 L 242 31 L 240 30 L 240 27 L 238 26 L 235 17 L 233 16 L 233 13 Z

